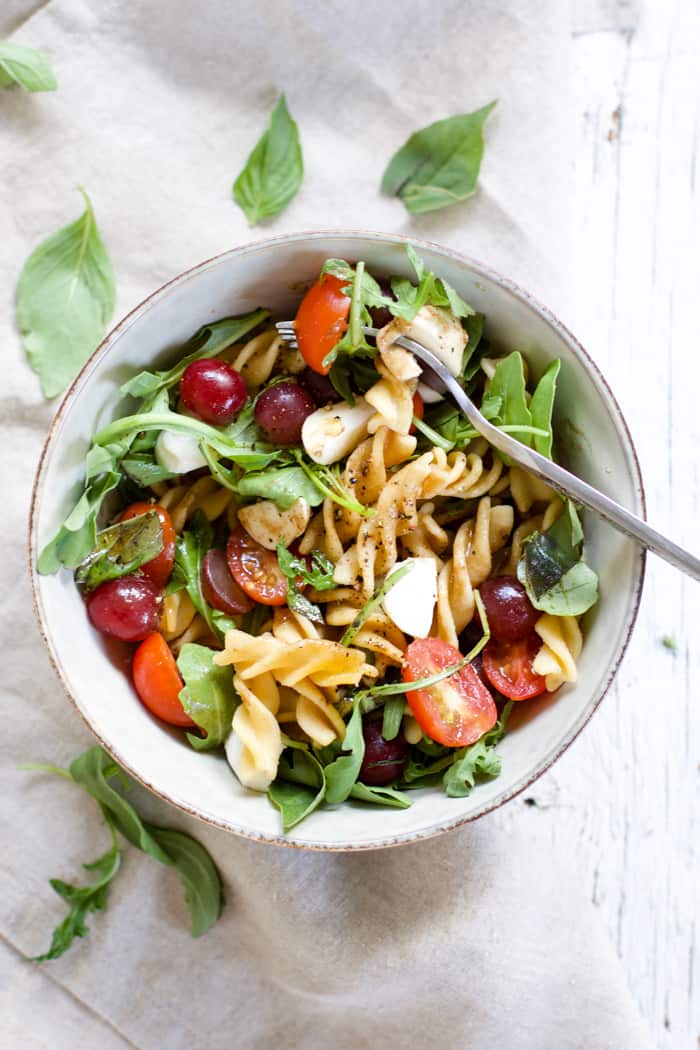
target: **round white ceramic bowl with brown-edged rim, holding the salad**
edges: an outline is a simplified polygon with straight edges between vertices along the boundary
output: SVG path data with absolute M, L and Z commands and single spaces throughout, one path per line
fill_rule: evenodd
M 489 336 L 522 350 L 535 375 L 553 357 L 563 366 L 556 434 L 569 466 L 643 513 L 632 439 L 595 364 L 548 310 L 511 281 L 457 252 L 412 242 L 427 266 L 486 315 Z M 128 674 L 128 657 L 106 646 L 85 615 L 69 572 L 40 576 L 39 550 L 76 499 L 91 435 L 121 414 L 118 388 L 135 372 L 163 366 L 200 324 L 257 306 L 292 317 L 299 281 L 330 256 L 366 260 L 375 273 L 404 273 L 405 239 L 362 232 L 318 232 L 236 248 L 203 262 L 155 292 L 129 314 L 93 354 L 68 391 L 39 464 L 30 522 L 37 614 L 56 670 L 80 713 L 114 758 L 179 808 L 251 838 L 323 849 L 393 845 L 455 827 L 527 788 L 571 743 L 604 695 L 624 652 L 639 602 L 644 558 L 631 542 L 587 516 L 588 556 L 600 574 L 601 596 L 586 620 L 578 681 L 553 697 L 516 708 L 500 744 L 503 772 L 465 799 L 439 789 L 412 792 L 409 810 L 349 803 L 314 813 L 290 835 L 262 795 L 243 791 L 222 755 L 199 754 L 150 717 Z

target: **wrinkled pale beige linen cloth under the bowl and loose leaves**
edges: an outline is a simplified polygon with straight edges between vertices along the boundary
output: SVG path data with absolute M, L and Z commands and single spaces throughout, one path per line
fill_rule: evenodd
M 78 789 L 16 769 L 65 763 L 91 742 L 30 607 L 27 508 L 54 405 L 14 328 L 21 262 L 77 216 L 78 184 L 114 262 L 116 316 L 178 271 L 263 235 L 247 229 L 230 185 L 285 90 L 306 176 L 271 231 L 413 233 L 566 310 L 567 5 L 9 0 L 0 35 L 10 32 L 50 52 L 60 86 L 0 94 L 3 1047 L 643 1050 L 575 876 L 488 818 L 411 846 L 317 855 L 212 831 L 139 791 L 151 819 L 191 831 L 216 858 L 224 918 L 191 940 L 174 877 L 129 849 L 89 936 L 58 962 L 26 961 L 63 914 L 48 877 L 75 879 L 106 838 Z M 410 131 L 493 98 L 470 202 L 411 219 L 379 195 Z

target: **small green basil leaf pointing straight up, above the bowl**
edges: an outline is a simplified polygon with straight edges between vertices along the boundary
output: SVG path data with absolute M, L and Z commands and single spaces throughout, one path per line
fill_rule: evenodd
M 283 94 L 270 123 L 233 184 L 233 196 L 251 226 L 282 211 L 303 178 L 299 129 Z

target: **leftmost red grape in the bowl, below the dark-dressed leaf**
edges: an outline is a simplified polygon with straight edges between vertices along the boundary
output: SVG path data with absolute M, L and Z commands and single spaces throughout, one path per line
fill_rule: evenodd
M 147 576 L 100 584 L 87 600 L 90 623 L 122 642 L 141 642 L 158 626 L 161 589 Z

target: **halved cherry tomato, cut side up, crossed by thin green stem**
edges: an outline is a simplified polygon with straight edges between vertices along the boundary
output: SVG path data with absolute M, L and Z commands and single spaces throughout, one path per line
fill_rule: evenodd
M 441 638 L 417 638 L 408 646 L 402 670 L 405 682 L 429 678 L 453 667 L 462 653 Z M 468 664 L 448 678 L 406 694 L 424 733 L 446 748 L 465 748 L 495 726 L 493 697 Z

